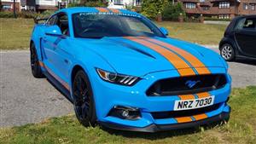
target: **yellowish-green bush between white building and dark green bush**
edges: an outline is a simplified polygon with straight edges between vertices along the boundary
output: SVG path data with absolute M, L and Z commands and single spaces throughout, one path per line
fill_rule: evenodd
M 163 12 L 168 0 L 143 0 L 142 14 L 151 20 L 155 20 L 159 12 Z

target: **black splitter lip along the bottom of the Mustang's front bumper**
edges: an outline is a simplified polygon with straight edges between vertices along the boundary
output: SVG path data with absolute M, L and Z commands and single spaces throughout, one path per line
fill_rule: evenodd
M 109 122 L 99 122 L 103 127 L 114 129 L 114 130 L 128 130 L 128 131 L 139 131 L 139 132 L 150 132 L 154 133 L 157 131 L 165 131 L 165 130 L 180 130 L 187 128 L 195 128 L 205 124 L 212 124 L 221 121 L 228 121 L 230 118 L 230 112 L 222 112 L 217 116 L 213 116 L 212 118 L 206 118 L 199 121 L 194 121 L 190 123 L 183 124 L 150 124 L 143 128 L 131 127 L 122 124 L 113 124 Z

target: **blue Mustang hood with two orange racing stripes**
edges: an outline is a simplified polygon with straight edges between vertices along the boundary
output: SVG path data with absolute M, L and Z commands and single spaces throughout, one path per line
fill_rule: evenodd
M 98 55 L 101 55 L 104 60 L 108 62 L 110 66 L 116 72 L 121 74 L 130 74 L 134 76 L 143 76 L 149 72 L 160 72 L 177 69 L 187 69 L 188 66 L 195 69 L 196 67 L 224 67 L 223 62 L 217 53 L 210 49 L 203 48 L 193 43 L 183 42 L 170 37 L 152 37 L 157 41 L 172 45 L 176 49 L 182 49 L 183 51 L 193 55 L 195 59 L 200 60 L 203 66 L 197 65 L 193 60 L 185 59 L 176 50 L 168 49 L 172 51 L 172 54 L 178 55 L 180 59 L 174 59 L 172 61 L 166 59 L 166 53 L 162 54 L 160 51 L 152 49 L 152 45 L 159 45 L 154 43 L 150 46 L 145 46 L 142 43 L 137 43 L 132 39 L 141 39 L 142 37 L 103 37 L 101 39 L 80 39 L 80 43 L 84 44 L 84 47 L 91 49 Z M 161 46 L 162 49 L 167 49 Z M 169 55 L 170 57 L 170 55 Z M 187 63 L 187 66 L 178 66 L 179 63 Z M 193 63 L 194 62 L 194 63 Z M 192 66 L 192 65 L 193 66 Z M 195 71 L 195 70 L 194 70 Z

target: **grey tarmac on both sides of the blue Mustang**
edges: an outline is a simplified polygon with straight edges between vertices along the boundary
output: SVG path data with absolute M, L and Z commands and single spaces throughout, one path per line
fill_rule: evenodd
M 255 61 L 231 62 L 229 72 L 233 87 L 256 85 Z M 73 105 L 45 78 L 32 77 L 28 51 L 0 52 L 0 90 L 0 127 L 73 112 Z

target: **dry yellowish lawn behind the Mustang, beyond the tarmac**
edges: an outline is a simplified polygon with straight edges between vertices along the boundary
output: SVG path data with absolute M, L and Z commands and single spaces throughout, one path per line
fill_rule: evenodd
M 32 19 L 0 19 L 0 49 L 26 49 L 34 23 Z M 217 45 L 224 35 L 224 25 L 204 25 L 201 23 L 160 22 L 171 37 L 193 43 Z

